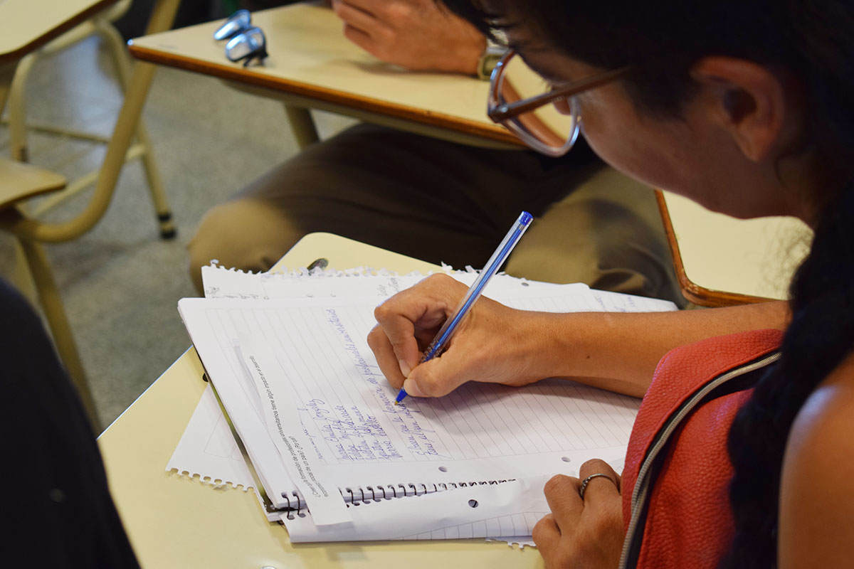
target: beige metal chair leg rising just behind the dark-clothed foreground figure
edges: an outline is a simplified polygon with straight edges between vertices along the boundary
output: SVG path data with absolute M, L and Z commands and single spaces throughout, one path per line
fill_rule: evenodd
M 68 318 L 65 314 L 65 307 L 62 305 L 59 289 L 56 287 L 53 271 L 50 270 L 47 257 L 44 255 L 44 249 L 33 241 L 19 239 L 18 242 L 24 252 L 26 263 L 30 267 L 30 274 L 38 292 L 39 304 L 42 306 L 48 327 L 53 334 L 54 343 L 56 343 L 56 351 L 59 352 L 59 357 L 65 364 L 68 375 L 74 385 L 77 386 L 80 400 L 83 402 L 86 414 L 89 415 L 92 427 L 96 433 L 101 433 L 101 421 L 98 420 L 89 382 L 86 380 L 83 363 L 80 361 L 80 354 L 77 351 L 77 345 L 74 343 L 71 326 L 68 324 Z

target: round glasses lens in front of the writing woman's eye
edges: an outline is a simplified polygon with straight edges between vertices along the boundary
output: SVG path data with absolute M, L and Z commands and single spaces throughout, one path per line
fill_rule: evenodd
M 524 101 L 542 95 L 551 86 L 534 73 L 518 55 L 506 60 L 504 73 L 495 91 L 496 105 Z M 521 113 L 505 121 L 529 146 L 544 154 L 561 155 L 572 147 L 578 136 L 578 109 L 573 98 L 559 99 Z

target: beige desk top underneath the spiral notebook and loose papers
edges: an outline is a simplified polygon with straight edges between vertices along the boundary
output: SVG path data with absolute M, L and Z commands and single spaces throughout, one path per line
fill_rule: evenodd
M 307 235 L 281 264 L 305 266 L 319 257 L 342 268 L 361 264 L 407 272 L 435 268 L 330 234 Z M 542 566 L 535 550 L 480 539 L 292 545 L 282 525 L 266 522 L 255 496 L 213 490 L 196 479 L 164 471 L 204 387 L 202 364 L 190 349 L 98 440 L 114 501 L 143 567 Z

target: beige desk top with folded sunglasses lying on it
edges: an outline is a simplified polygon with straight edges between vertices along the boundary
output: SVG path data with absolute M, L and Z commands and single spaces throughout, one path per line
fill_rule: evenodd
M 307 107 L 357 118 L 373 113 L 521 146 L 487 118 L 487 81 L 412 73 L 383 63 L 344 38 L 341 20 L 330 9 L 295 4 L 254 12 L 252 23 L 264 31 L 270 55 L 263 66 L 249 68 L 226 60 L 225 42 L 213 39 L 222 21 L 134 39 L 131 53 L 144 61 L 303 97 L 310 101 Z

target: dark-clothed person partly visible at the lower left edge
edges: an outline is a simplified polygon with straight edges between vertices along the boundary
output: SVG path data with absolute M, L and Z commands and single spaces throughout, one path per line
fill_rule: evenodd
M 41 321 L 0 281 L 3 566 L 136 568 L 77 392 Z

